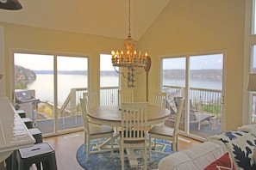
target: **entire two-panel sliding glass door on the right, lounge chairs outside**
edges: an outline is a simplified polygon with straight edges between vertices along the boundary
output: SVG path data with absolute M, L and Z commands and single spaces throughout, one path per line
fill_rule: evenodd
M 199 138 L 220 133 L 222 75 L 222 53 L 162 58 L 162 91 L 168 93 L 167 106 L 172 112 L 165 125 L 173 125 L 178 100 L 184 97 L 184 111 L 179 130 Z

